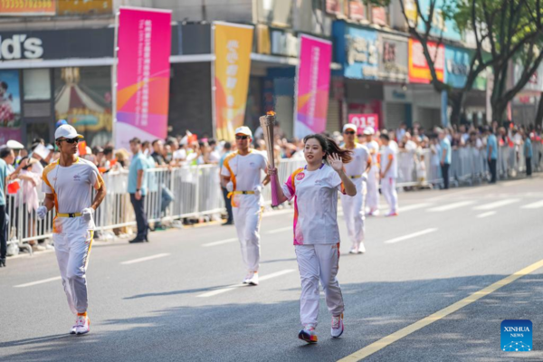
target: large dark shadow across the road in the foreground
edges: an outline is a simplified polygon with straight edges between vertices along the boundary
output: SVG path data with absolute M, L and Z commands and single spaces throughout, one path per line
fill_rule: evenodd
M 319 344 L 315 346 L 307 346 L 297 338 L 298 300 L 224 304 L 222 296 L 216 296 L 202 300 L 203 304 L 211 305 L 156 310 L 154 315 L 146 317 L 138 317 L 138 310 L 133 310 L 133 318 L 127 319 L 100 320 L 94 316 L 92 332 L 81 338 L 54 335 L 3 342 L 0 359 L 10 362 L 336 361 L 505 277 L 478 275 L 344 284 L 345 334 L 342 338 L 330 338 L 329 312 L 321 300 Z M 216 288 L 220 287 L 197 291 Z M 254 291 L 262 297 L 269 292 L 263 289 Z M 141 294 L 127 299 L 169 298 L 193 291 Z M 536 328 L 534 352 L 514 357 L 540 361 L 543 357 L 538 351 L 543 349 L 543 333 L 538 329 L 543 325 L 543 317 L 538 310 L 542 307 L 543 274 L 528 275 L 400 339 L 367 360 L 511 360 L 510 353 L 500 351 L 500 321 L 531 319 Z

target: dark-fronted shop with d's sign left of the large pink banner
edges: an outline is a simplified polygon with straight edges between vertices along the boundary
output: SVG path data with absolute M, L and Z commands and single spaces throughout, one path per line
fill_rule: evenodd
M 67 119 L 88 144 L 110 140 L 113 29 L 3 32 L 1 48 L 0 138 L 52 142 Z

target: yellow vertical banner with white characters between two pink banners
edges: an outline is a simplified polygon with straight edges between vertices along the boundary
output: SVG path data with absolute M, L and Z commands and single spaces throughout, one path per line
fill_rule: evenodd
M 216 137 L 233 140 L 243 126 L 251 71 L 252 26 L 214 24 Z

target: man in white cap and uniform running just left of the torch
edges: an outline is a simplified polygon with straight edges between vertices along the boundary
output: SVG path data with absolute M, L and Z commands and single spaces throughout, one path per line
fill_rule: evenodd
M 224 158 L 223 185 L 232 203 L 233 224 L 242 248 L 243 262 L 247 268 L 244 284 L 258 285 L 260 264 L 260 224 L 264 200 L 262 188 L 269 182 L 262 181 L 266 171 L 266 156 L 251 148 L 252 132 L 248 127 L 235 130 L 237 151 Z

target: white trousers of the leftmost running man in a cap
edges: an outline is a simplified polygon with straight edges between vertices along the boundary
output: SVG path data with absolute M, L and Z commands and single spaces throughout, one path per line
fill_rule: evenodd
M 54 252 L 61 270 L 62 286 L 73 314 L 87 311 L 87 278 L 90 248 L 94 231 L 53 233 Z

